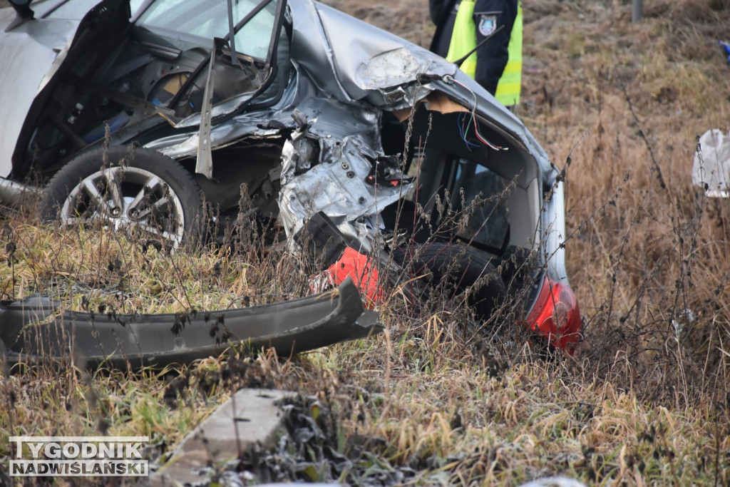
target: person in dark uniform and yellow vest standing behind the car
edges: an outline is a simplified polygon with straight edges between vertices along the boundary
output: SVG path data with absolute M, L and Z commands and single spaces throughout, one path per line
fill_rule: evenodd
M 505 106 L 519 103 L 522 73 L 522 7 L 518 0 L 429 0 L 436 34 L 431 51 L 448 61 L 469 55 L 461 70 Z

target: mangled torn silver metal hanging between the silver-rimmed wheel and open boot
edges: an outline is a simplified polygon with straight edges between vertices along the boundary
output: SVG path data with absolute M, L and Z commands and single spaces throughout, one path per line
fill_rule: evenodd
M 366 110 L 355 110 L 359 118 L 368 118 Z M 388 204 L 401 199 L 410 185 L 393 181 L 390 185 L 369 184 L 369 175 L 382 156 L 380 141 L 372 127 L 375 121 L 358 117 L 334 117 L 307 121 L 296 111 L 293 119 L 299 126 L 282 150 L 282 187 L 279 193 L 279 218 L 288 237 L 298 233 L 312 215 L 323 212 L 347 237 L 356 239 L 361 250 L 374 250 L 379 217 Z M 350 136 L 331 137 L 331 132 L 347 126 Z M 327 135 L 323 134 L 327 133 Z M 339 134 L 338 134 L 339 135 Z M 319 158 L 315 157 L 318 147 Z M 372 178 L 371 178 L 372 179 Z M 289 239 L 296 250 L 296 243 Z

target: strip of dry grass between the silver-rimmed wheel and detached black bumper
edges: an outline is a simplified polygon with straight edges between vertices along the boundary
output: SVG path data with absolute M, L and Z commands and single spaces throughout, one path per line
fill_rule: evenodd
M 164 313 L 247 307 L 310 293 L 296 256 L 241 242 L 172 251 L 109 229 L 12 221 L 3 229 L 0 299 L 42 294 L 74 310 Z M 299 277 L 299 278 L 297 278 Z

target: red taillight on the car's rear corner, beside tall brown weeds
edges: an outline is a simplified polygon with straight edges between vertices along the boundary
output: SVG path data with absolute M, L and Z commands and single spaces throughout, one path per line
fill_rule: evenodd
M 527 317 L 527 325 L 548 339 L 550 345 L 573 353 L 583 335 L 580 333 L 578 300 L 572 289 L 545 277 L 537 302 Z

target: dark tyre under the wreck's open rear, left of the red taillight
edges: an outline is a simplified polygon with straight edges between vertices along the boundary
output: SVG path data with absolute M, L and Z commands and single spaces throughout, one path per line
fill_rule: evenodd
M 504 302 L 507 288 L 491 259 L 463 245 L 429 242 L 399 247 L 393 249 L 393 260 L 405 269 L 408 282 L 418 286 L 411 291 L 422 300 L 431 299 L 436 290 L 456 300 L 466 292 L 469 306 L 482 321 Z

